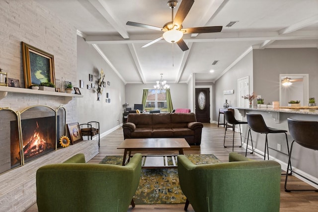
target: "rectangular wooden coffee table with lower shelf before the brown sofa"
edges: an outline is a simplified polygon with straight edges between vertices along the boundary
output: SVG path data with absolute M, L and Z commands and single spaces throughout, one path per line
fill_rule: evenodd
M 124 150 L 123 166 L 129 161 L 132 151 L 179 151 L 183 154 L 183 148 L 190 148 L 185 139 L 160 138 L 160 139 L 126 139 L 118 147 Z M 128 151 L 128 159 L 126 161 Z M 168 158 L 173 165 L 168 165 Z M 143 168 L 176 167 L 176 155 L 145 155 L 142 160 Z

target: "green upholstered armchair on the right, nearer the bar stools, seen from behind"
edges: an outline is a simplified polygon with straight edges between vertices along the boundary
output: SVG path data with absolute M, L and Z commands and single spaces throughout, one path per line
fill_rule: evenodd
M 281 166 L 231 152 L 226 163 L 195 165 L 178 155 L 180 187 L 195 212 L 279 212 Z

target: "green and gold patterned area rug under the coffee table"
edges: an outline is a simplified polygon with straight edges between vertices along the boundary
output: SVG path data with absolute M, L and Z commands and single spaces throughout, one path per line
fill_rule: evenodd
M 214 154 L 186 154 L 194 164 L 221 163 Z M 123 156 L 106 156 L 100 163 L 121 165 Z M 176 168 L 142 169 L 139 187 L 134 196 L 136 205 L 184 204 Z

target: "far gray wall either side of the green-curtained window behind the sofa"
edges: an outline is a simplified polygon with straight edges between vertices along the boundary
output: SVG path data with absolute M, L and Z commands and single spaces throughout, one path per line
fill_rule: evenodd
M 172 99 L 173 108 L 188 108 L 188 94 L 186 83 L 169 83 L 170 93 Z M 141 104 L 143 98 L 143 89 L 154 89 L 155 83 L 149 84 L 126 84 L 125 85 L 125 103 L 128 103 L 131 108 L 134 108 L 134 104 Z

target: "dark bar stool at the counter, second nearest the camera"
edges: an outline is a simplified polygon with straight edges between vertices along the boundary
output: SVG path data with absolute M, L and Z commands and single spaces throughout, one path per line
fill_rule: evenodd
M 269 152 L 268 152 L 268 141 L 267 141 L 267 134 L 270 133 L 284 133 L 286 136 L 286 143 L 287 143 L 287 150 L 288 150 L 288 156 L 289 156 L 289 145 L 288 145 L 288 139 L 287 139 L 287 130 L 278 130 L 275 128 L 269 128 L 266 126 L 264 119 L 262 117 L 262 115 L 260 114 L 248 114 L 246 113 L 246 118 L 247 118 L 247 123 L 249 126 L 249 133 L 250 134 L 250 140 L 253 142 L 252 140 L 252 134 L 250 132 L 250 130 L 256 132 L 256 133 L 260 133 L 260 134 L 266 134 L 266 138 L 265 138 L 265 151 L 264 151 L 264 160 L 266 159 L 266 151 L 267 151 L 267 159 L 269 160 Z M 247 139 L 247 143 L 248 143 L 248 139 Z M 247 151 L 247 148 L 246 148 Z

